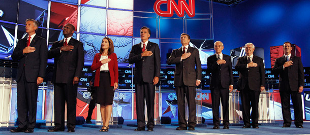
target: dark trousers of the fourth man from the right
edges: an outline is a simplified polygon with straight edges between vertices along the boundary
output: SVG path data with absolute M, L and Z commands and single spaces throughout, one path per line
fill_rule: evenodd
M 176 86 L 176 97 L 178 107 L 178 121 L 181 127 L 195 127 L 196 126 L 196 87 L 194 86 Z M 185 97 L 188 101 L 189 107 L 189 123 L 185 119 Z

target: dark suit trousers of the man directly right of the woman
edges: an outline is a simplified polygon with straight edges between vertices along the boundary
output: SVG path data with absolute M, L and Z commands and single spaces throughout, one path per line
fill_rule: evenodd
M 138 128 L 145 127 L 144 116 L 144 98 L 147 108 L 147 128 L 154 127 L 154 98 L 155 98 L 155 85 L 152 83 L 140 82 L 136 84 L 136 112 Z

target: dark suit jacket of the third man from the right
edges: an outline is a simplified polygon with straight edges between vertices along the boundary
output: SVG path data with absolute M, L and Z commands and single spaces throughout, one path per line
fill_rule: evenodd
M 229 89 L 229 85 L 233 85 L 232 76 L 232 62 L 231 57 L 223 54 L 223 59 L 226 60 L 225 64 L 219 65 L 216 61 L 218 58 L 215 54 L 207 59 L 207 72 L 211 73 L 211 87 L 219 85 L 221 80 L 222 87 Z

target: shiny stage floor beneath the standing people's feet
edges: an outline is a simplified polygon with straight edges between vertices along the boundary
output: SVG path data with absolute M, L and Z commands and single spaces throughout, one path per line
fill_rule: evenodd
M 172 121 L 177 123 L 177 121 Z M 212 122 L 207 120 L 207 123 Z M 212 129 L 212 125 L 207 125 L 206 127 L 196 127 L 194 131 L 182 130 L 177 131 L 175 128 L 177 126 L 172 126 L 170 124 L 165 124 L 164 127 L 154 127 L 154 131 L 134 131 L 136 127 L 126 126 L 127 124 L 136 124 L 134 120 L 125 120 L 122 128 L 110 128 L 108 132 L 99 132 L 99 128 L 89 128 L 83 127 L 82 125 L 77 125 L 75 132 L 73 134 L 309 134 L 310 121 L 304 121 L 304 128 L 296 128 L 294 122 L 289 128 L 282 128 L 283 121 L 276 121 L 279 125 L 260 125 L 259 129 L 246 128 L 242 129 L 242 126 L 230 126 L 230 129 L 223 129 L 223 126 L 220 126 L 220 129 Z M 145 128 L 147 129 L 147 128 Z M 31 134 L 72 134 L 66 132 L 47 132 L 46 129 L 35 128 L 35 132 Z M 2 130 L 0 134 L 14 134 L 9 130 Z M 29 133 L 15 133 L 15 134 L 29 134 Z

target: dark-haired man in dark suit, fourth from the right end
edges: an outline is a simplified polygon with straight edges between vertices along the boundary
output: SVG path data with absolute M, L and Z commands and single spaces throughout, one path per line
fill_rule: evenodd
M 195 130 L 196 126 L 196 86 L 201 82 L 201 62 L 199 51 L 190 47 L 191 37 L 181 34 L 182 47 L 174 49 L 167 59 L 167 64 L 175 64 L 174 86 L 177 97 L 179 127 L 176 130 Z M 195 70 L 195 65 L 197 70 Z M 185 120 L 184 97 L 189 106 L 189 123 Z

